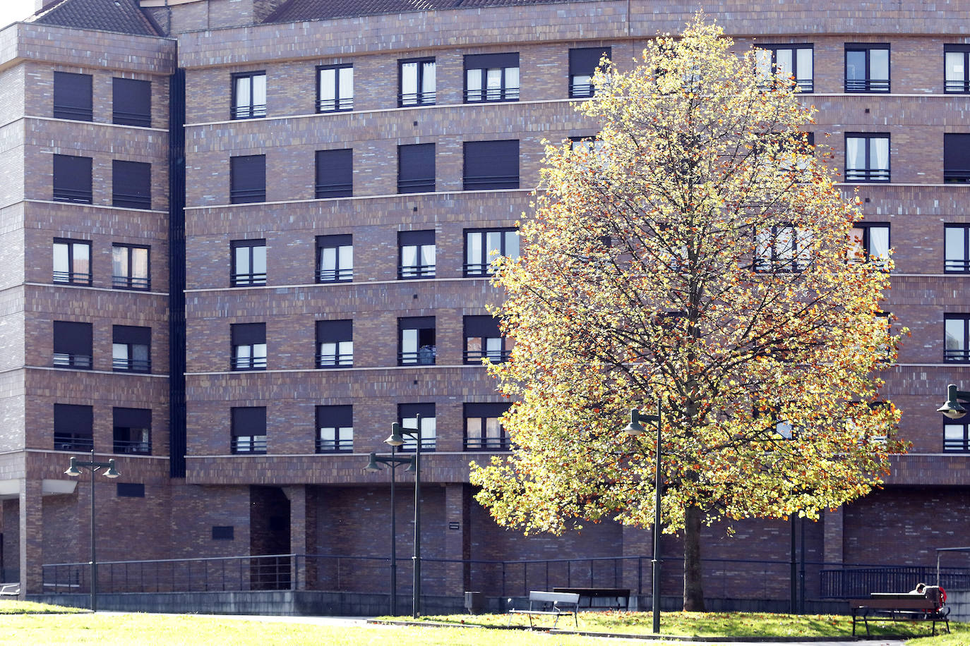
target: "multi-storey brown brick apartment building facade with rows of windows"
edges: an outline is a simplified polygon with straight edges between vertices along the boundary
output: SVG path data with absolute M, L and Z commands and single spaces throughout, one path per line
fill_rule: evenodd
M 405 4 L 38 0 L 38 15 L 0 31 L 0 567 L 21 594 L 45 591 L 43 564 L 87 558 L 89 485 L 62 474 L 91 446 L 117 460 L 120 482 L 145 485 L 131 497 L 96 478 L 98 525 L 112 537 L 100 543 L 103 560 L 385 557 L 389 478 L 363 467 L 386 450 L 391 422 L 418 410 L 436 427 L 423 474 L 428 558 L 649 551 L 648 531 L 608 523 L 523 537 L 471 500 L 469 461 L 505 446 L 469 437 L 469 418 L 495 415 L 475 405 L 501 404 L 468 342 L 479 338 L 470 317 L 501 295 L 469 266 L 469 245 L 528 210 L 543 139 L 595 134 L 570 99 L 570 52 L 608 47 L 623 69 L 696 8 Z M 970 231 L 960 229 L 970 227 L 970 166 L 954 163 L 970 138 L 970 64 L 959 82 L 944 64 L 947 52 L 970 50 L 961 9 L 730 2 L 710 15 L 739 47 L 809 50 L 812 67 L 800 74 L 811 86 L 804 101 L 820 110 L 816 144 L 861 172 L 865 181 L 845 191 L 857 191 L 866 223 L 889 231 L 888 309 L 912 330 L 885 376 L 912 450 L 894 460 L 885 488 L 800 528 L 802 558 L 826 568 L 928 566 L 933 548 L 970 536 L 967 424 L 952 425 L 945 443 L 935 413 L 948 383 L 970 383 Z M 866 56 L 860 80 L 847 72 L 850 51 Z M 500 100 L 476 100 L 475 64 L 506 70 Z M 339 72 L 348 67 L 350 81 Z M 118 106 L 142 105 L 144 93 L 150 109 L 133 124 Z M 889 163 L 855 168 L 849 138 L 886 139 Z M 496 158 L 501 177 L 469 175 L 476 151 L 498 150 L 476 143 L 513 140 L 514 165 Z M 421 164 L 402 163 L 407 155 Z M 115 183 L 146 168 L 132 207 Z M 499 188 L 480 190 L 488 182 Z M 962 251 L 947 235 L 964 236 Z M 352 261 L 339 260 L 341 247 Z M 132 250 L 145 248 L 142 264 Z M 58 339 L 55 329 L 74 331 Z M 87 354 L 71 352 L 79 344 Z M 133 359 L 144 345 L 147 365 Z M 150 419 L 147 431 L 123 421 L 128 410 Z M 411 479 L 402 480 L 404 555 L 413 528 Z M 723 529 L 710 530 L 705 557 L 789 558 L 787 523 L 744 522 L 733 537 Z M 664 538 L 664 552 L 679 558 L 676 538 Z M 386 564 L 367 568 L 379 576 Z M 319 587 L 338 586 L 325 570 Z M 441 565 L 428 576 L 429 594 L 454 596 L 497 575 Z M 623 576 L 630 585 L 633 573 Z M 677 593 L 675 577 L 667 589 Z M 713 596 L 766 594 L 778 591 L 728 581 Z

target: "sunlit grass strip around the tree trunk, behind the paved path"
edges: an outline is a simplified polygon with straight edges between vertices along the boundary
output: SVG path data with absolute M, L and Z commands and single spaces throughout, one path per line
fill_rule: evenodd
M 505 626 L 508 615 L 443 615 L 424 617 L 428 622 L 449 624 L 464 623 L 483 626 Z M 552 618 L 536 617 L 536 625 L 552 626 Z M 529 625 L 524 615 L 516 615 L 512 625 Z M 642 634 L 652 631 L 653 621 L 649 612 L 580 612 L 579 630 L 591 632 L 614 632 Z M 561 617 L 558 628 L 571 631 L 571 617 Z M 859 627 L 861 629 L 861 627 Z M 916 637 L 929 634 L 931 624 L 926 622 L 873 622 L 869 630 L 873 635 L 899 635 Z M 861 629 L 864 634 L 864 629 Z M 939 631 L 939 625 L 937 626 Z M 955 646 L 970 644 L 970 625 L 954 624 Z M 840 639 L 852 636 L 852 618 L 841 615 L 785 615 L 758 612 L 664 612 L 661 615 L 661 633 L 698 637 L 832 637 Z M 962 641 L 961 641 L 962 640 Z M 939 642 L 951 646 L 950 642 Z M 937 642 L 924 642 L 921 646 L 936 646 Z

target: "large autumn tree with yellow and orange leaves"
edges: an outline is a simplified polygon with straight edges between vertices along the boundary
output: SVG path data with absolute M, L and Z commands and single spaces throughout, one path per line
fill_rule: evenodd
M 817 519 L 880 482 L 898 413 L 880 302 L 888 262 L 854 252 L 812 110 L 784 71 L 698 17 L 578 106 L 600 127 L 547 146 L 521 259 L 498 261 L 513 449 L 472 465 L 506 526 L 650 526 L 663 411 L 663 531 L 684 539 L 684 609 L 702 610 L 702 523 Z M 763 66 L 762 66 L 763 70 Z

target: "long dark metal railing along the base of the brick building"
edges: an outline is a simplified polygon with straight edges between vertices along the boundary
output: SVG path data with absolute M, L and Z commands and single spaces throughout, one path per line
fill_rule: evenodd
M 384 594 L 389 558 L 332 554 L 277 554 L 157 561 L 108 561 L 98 564 L 101 593 L 241 592 L 319 590 Z M 475 590 L 486 597 L 524 597 L 531 590 L 556 587 L 624 588 L 650 595 L 647 556 L 533 561 L 422 559 L 424 595 L 455 596 Z M 935 582 L 930 567 L 886 567 L 790 561 L 705 559 L 705 596 L 736 600 L 838 600 L 870 592 L 905 592 L 917 582 Z M 398 559 L 398 594 L 411 592 L 412 562 Z M 683 589 L 682 562 L 663 562 L 664 595 Z M 52 594 L 90 590 L 88 563 L 44 566 L 44 589 Z M 970 587 L 970 569 L 941 570 L 945 588 Z

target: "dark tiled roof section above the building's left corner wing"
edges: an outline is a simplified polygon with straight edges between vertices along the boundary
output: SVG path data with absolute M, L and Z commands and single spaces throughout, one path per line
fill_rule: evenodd
M 137 36 L 161 35 L 138 0 L 62 0 L 32 22 Z

